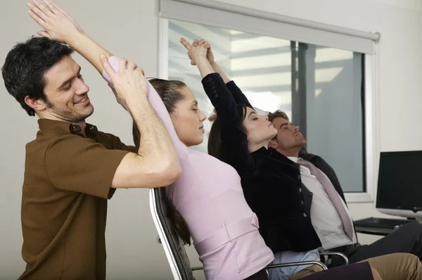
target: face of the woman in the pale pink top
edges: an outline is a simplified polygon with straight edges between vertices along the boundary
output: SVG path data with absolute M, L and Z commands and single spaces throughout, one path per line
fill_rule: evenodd
M 188 87 L 179 89 L 183 98 L 170 113 L 177 136 L 186 146 L 196 146 L 203 142 L 203 121 L 207 118 L 198 108 L 198 101 Z

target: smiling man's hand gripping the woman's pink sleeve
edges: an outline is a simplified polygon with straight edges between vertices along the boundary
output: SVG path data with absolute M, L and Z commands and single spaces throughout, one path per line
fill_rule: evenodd
M 113 83 L 113 93 L 117 102 L 125 110 L 128 110 L 127 102 L 131 98 L 139 98 L 142 95 L 148 96 L 148 85 L 143 70 L 135 63 L 128 62 L 126 58 L 119 58 L 119 70 L 117 72 L 113 70 L 106 56 L 101 56 L 101 63 Z

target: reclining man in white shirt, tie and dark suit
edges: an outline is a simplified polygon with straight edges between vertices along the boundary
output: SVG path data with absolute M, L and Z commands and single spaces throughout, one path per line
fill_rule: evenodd
M 269 146 L 298 164 L 302 184 L 310 191 L 312 225 L 324 250 L 341 252 L 350 262 L 390 253 L 412 253 L 422 258 L 422 225 L 411 223 L 369 246 L 357 243 L 352 216 L 334 170 L 318 155 L 303 151 L 306 139 L 286 113 L 269 113 L 277 135 Z

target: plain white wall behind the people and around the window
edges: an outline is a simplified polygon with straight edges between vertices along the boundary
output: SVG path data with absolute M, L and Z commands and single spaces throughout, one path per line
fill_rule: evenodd
M 419 47 L 422 44 L 422 5 L 417 0 L 224 1 L 381 32 L 380 94 L 376 115 L 378 148 L 381 151 L 422 148 L 422 129 L 419 129 L 422 119 L 422 53 Z M 136 61 L 148 76 L 157 75 L 157 0 L 58 0 L 57 3 L 110 51 Z M 0 1 L 1 64 L 15 42 L 25 40 L 39 30 L 27 16 L 25 5 L 25 0 Z M 416 8 L 419 8 L 417 12 Z M 75 58 L 82 65 L 82 74 L 91 87 L 90 97 L 96 108 L 89 122 L 117 134 L 127 143 L 132 142 L 127 114 L 117 106 L 98 73 L 79 56 Z M 0 86 L 0 103 L 0 279 L 16 279 L 24 269 L 20 257 L 20 196 L 25 144 L 34 138 L 37 125 L 34 117 L 25 115 L 18 103 L 8 96 L 3 85 Z M 376 215 L 371 203 L 350 205 L 350 208 L 354 218 Z M 117 191 L 110 201 L 108 213 L 108 279 L 170 279 L 162 248 L 155 243 L 147 191 Z M 195 255 L 192 249 L 190 252 Z M 198 264 L 198 260 L 192 262 Z

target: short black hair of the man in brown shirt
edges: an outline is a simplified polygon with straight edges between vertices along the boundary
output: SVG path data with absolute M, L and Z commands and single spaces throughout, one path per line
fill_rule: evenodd
M 8 52 L 1 68 L 4 85 L 28 115 L 35 115 L 35 110 L 25 103 L 25 97 L 47 101 L 44 73 L 72 53 L 69 46 L 44 37 L 31 37 Z

